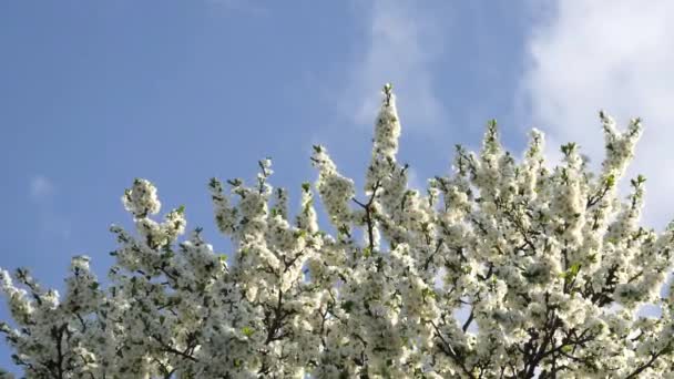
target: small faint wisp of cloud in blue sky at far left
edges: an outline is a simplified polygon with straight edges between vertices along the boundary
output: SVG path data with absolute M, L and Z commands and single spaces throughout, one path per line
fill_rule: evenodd
M 43 175 L 34 175 L 28 184 L 28 194 L 35 205 L 37 222 L 43 233 L 67 239 L 71 234 L 70 221 L 55 211 L 57 185 Z

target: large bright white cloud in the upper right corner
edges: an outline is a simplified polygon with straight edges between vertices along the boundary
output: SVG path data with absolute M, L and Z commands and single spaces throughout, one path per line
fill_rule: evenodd
M 643 119 L 630 173 L 646 175 L 645 218 L 657 226 L 674 217 L 672 14 L 667 0 L 560 0 L 530 35 L 522 83 L 534 125 L 579 142 L 594 162 L 603 157 L 600 109 L 623 125 Z

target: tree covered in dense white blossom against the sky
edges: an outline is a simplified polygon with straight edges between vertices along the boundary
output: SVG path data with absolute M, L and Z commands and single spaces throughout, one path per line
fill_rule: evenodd
M 323 146 L 295 217 L 268 160 L 249 186 L 212 180 L 226 259 L 200 229 L 178 242 L 184 209 L 153 218 L 156 190 L 136 180 L 109 279 L 84 256 L 62 297 L 2 272 L 16 327 L 0 331 L 28 378 L 674 378 L 674 297 L 660 297 L 674 227 L 640 226 L 643 177 L 616 191 L 640 121 L 601 122 L 598 173 L 573 143 L 550 167 L 535 130 L 518 162 L 490 122 L 481 151 L 457 146 L 421 193 L 396 158 L 387 85 L 364 196 Z

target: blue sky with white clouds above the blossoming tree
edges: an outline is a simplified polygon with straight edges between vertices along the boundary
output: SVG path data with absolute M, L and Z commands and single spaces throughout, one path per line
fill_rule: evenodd
M 674 213 L 674 4 L 540 4 L 2 1 L 0 266 L 62 288 L 70 256 L 86 254 L 104 276 L 108 227 L 129 225 L 120 196 L 137 176 L 228 253 L 208 178 L 253 178 L 272 156 L 274 183 L 296 193 L 320 143 L 358 182 L 387 81 L 417 184 L 492 117 L 517 154 L 537 126 L 551 153 L 578 141 L 598 162 L 596 111 L 643 116 L 631 174 L 649 177 L 645 218 L 662 227 Z M 8 357 L 0 344 L 0 367 Z

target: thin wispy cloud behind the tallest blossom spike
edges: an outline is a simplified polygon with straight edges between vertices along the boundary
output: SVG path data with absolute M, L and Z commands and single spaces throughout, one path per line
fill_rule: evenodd
M 374 1 L 367 14 L 366 49 L 347 81 L 345 112 L 355 123 L 369 127 L 379 107 L 379 92 L 391 82 L 405 104 L 400 116 L 406 130 L 432 130 L 443 121 L 431 74 L 442 47 L 437 14 L 412 1 L 385 0 Z

